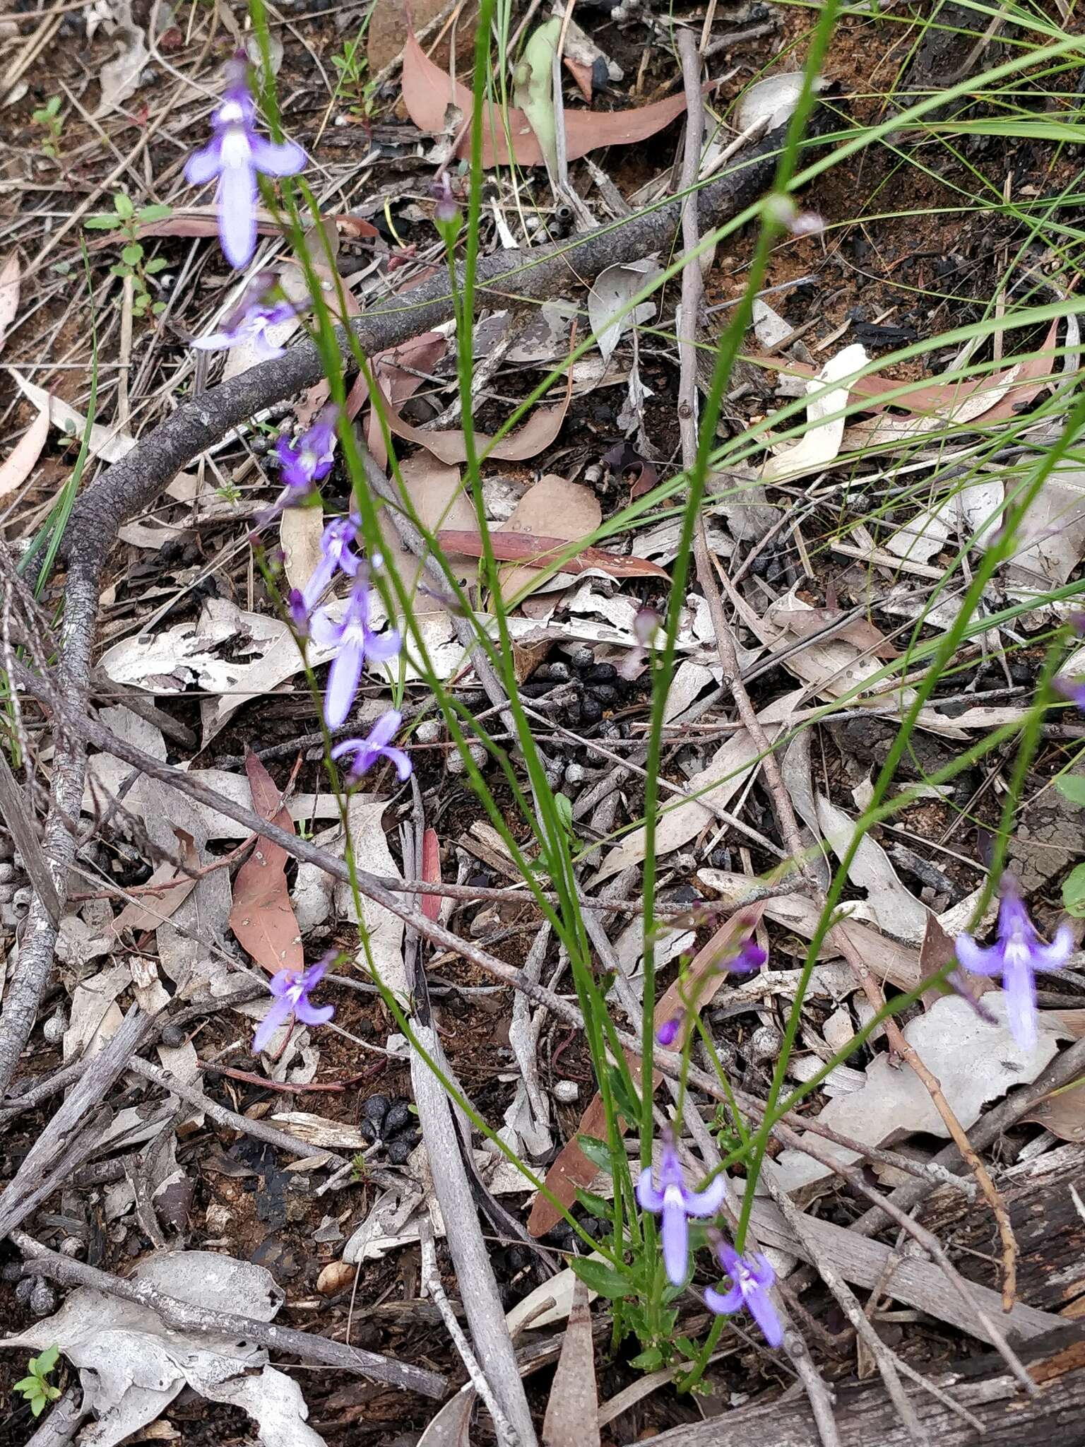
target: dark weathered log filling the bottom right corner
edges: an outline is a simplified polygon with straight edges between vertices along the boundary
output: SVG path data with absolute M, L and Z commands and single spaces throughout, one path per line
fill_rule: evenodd
M 1014 1378 L 997 1356 L 978 1357 L 961 1370 L 936 1379 L 953 1399 L 984 1424 L 984 1435 L 933 1396 L 919 1393 L 916 1415 L 939 1447 L 1081 1447 L 1085 1415 L 1085 1337 L 1066 1327 L 1029 1343 L 1024 1360 L 1039 1393 L 1023 1399 Z M 880 1386 L 842 1389 L 836 1399 L 842 1447 L 907 1447 L 907 1428 Z M 652 1438 L 652 1447 L 810 1447 L 810 1412 L 803 1402 L 726 1412 L 705 1422 L 676 1427 Z

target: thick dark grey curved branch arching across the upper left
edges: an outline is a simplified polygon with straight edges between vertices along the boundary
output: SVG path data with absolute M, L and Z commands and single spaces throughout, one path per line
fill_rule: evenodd
M 830 117 L 826 116 L 822 124 L 827 127 Z M 702 190 L 700 214 L 706 224 L 735 216 L 757 200 L 771 182 L 781 137 L 783 132 L 778 130 L 751 146 L 732 169 Z M 476 305 L 509 307 L 521 300 L 558 297 L 615 262 L 660 250 L 670 245 L 681 210 L 681 200 L 667 201 L 569 242 L 540 246 L 527 260 L 512 268 L 502 253 L 486 256 L 477 266 Z M 451 287 L 438 275 L 405 298 L 396 298 L 386 307 L 376 307 L 354 318 L 352 330 L 360 349 L 372 356 L 440 326 L 453 314 Z M 346 349 L 346 331 L 343 346 Z M 321 376 L 320 352 L 312 341 L 304 341 L 282 357 L 250 368 L 182 402 L 78 499 L 64 540 L 68 563 L 59 666 L 64 696 L 82 709 L 91 692 L 101 572 L 117 528 L 148 508 L 178 472 L 221 441 L 230 428 L 262 408 L 311 386 Z M 61 904 L 67 897 L 68 873 L 75 857 L 71 820 L 80 818 L 84 774 L 85 744 L 80 734 L 65 729 L 56 741 L 54 786 L 43 833 L 43 851 Z M 43 901 L 35 897 L 9 984 L 7 1003 L 0 1014 L 0 1092 L 10 1084 L 30 1037 L 49 978 L 55 942 L 56 926 Z

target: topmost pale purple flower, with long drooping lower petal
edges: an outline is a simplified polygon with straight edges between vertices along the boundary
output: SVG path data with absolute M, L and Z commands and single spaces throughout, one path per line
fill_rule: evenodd
M 249 90 L 249 67 L 236 55 L 227 67 L 223 104 L 211 117 L 211 140 L 185 162 L 185 181 L 205 185 L 218 179 L 218 239 L 239 271 L 256 250 L 256 175 L 292 177 L 305 165 L 305 152 L 292 140 L 276 143 L 256 130 L 256 103 Z

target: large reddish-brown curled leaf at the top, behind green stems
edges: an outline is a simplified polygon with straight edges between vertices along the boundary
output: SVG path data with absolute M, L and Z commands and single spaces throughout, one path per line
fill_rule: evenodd
M 444 130 L 444 116 L 450 104 L 460 110 L 466 122 L 475 109 L 467 87 L 451 80 L 447 71 L 428 59 L 414 30 L 407 32 L 404 49 L 404 104 L 415 126 L 434 135 Z M 647 140 L 684 110 L 684 96 L 670 96 L 667 100 L 655 101 L 654 106 L 639 106 L 634 110 L 566 110 L 566 159 L 576 161 L 600 146 L 631 146 L 638 140 Z M 508 137 L 505 122 L 508 122 Z M 456 155 L 469 158 L 470 149 L 470 124 L 464 124 Z M 508 165 L 511 161 L 521 166 L 545 165 L 524 111 L 509 106 L 502 114 L 495 106 L 488 104 L 482 126 L 482 164 Z

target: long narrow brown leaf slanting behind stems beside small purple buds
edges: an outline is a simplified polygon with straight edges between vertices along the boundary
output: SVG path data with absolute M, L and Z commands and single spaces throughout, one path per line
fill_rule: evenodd
M 694 1029 L 693 1014 L 689 1011 L 690 1001 L 696 1004 L 697 1013 L 712 1003 L 716 991 L 728 977 L 726 969 L 719 968 L 720 958 L 726 956 L 728 951 L 738 942 L 739 935 L 745 935 L 758 923 L 764 907 L 765 901 L 761 900 L 732 915 L 729 920 L 720 925 L 712 939 L 693 956 L 686 977 L 676 980 L 670 990 L 655 1003 L 652 1026 L 657 1030 L 664 1020 L 673 1020 L 680 1010 L 687 1011 L 680 1016 L 678 1036 L 671 1049 L 681 1051 L 690 1030 Z M 641 1059 L 639 1056 L 626 1055 L 626 1061 L 634 1085 L 639 1088 Z M 661 1079 L 663 1077 L 658 1071 L 652 1072 L 652 1090 L 658 1088 Z M 625 1134 L 628 1123 L 624 1117 L 618 1119 L 618 1129 Z M 602 1095 L 595 1097 L 580 1117 L 576 1136 L 566 1143 L 557 1160 L 547 1171 L 545 1187 L 564 1207 L 573 1205 L 577 1187 L 587 1188 L 595 1179 L 597 1169 L 577 1145 L 579 1136 L 595 1136 L 599 1140 L 606 1139 L 606 1113 Z M 531 1207 L 528 1231 L 535 1237 L 545 1236 L 560 1220 L 561 1215 L 557 1207 L 540 1191 Z

